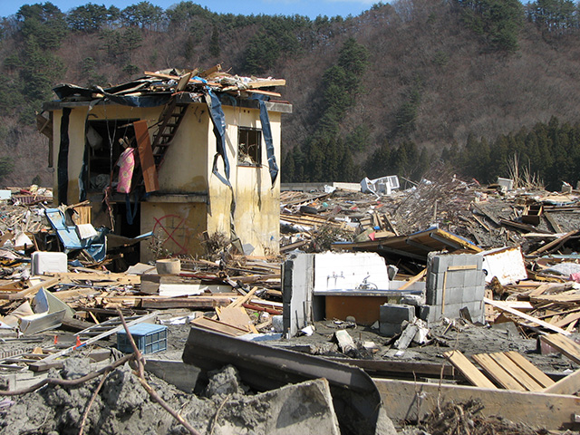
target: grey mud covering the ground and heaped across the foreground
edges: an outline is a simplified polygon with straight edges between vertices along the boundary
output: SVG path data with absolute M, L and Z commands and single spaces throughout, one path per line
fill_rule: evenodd
M 333 339 L 333 334 L 337 330 L 346 329 L 358 348 L 354 356 L 362 359 L 442 363 L 445 362 L 442 353 L 451 349 L 459 349 L 466 355 L 517 351 L 541 370 L 550 374 L 562 374 L 565 371 L 577 369 L 573 362 L 560 354 L 541 355 L 538 353 L 536 340 L 522 338 L 514 324 L 498 324 L 493 327 L 467 324 L 461 321 L 453 324 L 434 324 L 430 328 L 429 343 L 421 346 L 411 345 L 404 351 L 396 350 L 392 346 L 393 339 L 383 337 L 369 327 L 333 321 L 319 322 L 314 327 L 315 332 L 310 336 L 282 338 L 263 343 L 316 355 L 346 357 L 340 352 Z M 55 333 L 59 332 L 38 334 L 36 338 L 43 337 L 43 343 L 8 341 L 3 343 L 2 350 L 6 352 L 8 349 L 15 350 L 22 346 L 30 348 L 40 344 L 49 346 Z M 170 325 L 167 351 L 152 354 L 150 357 L 179 361 L 188 335 L 188 324 Z M 369 343 L 374 343 L 375 347 L 369 350 L 364 347 L 363 343 L 366 343 L 367 348 Z M 109 340 L 77 351 L 65 361 L 63 369 L 53 369 L 49 372 L 49 377 L 74 379 L 91 372 L 94 367 L 90 365 L 88 354 L 99 346 L 114 348 L 114 335 Z M 235 361 L 232 364 L 235 365 Z M 234 368 L 230 367 L 216 373 L 211 378 L 208 387 L 197 391 L 197 395 L 180 391 L 150 373 L 147 374 L 147 379 L 151 387 L 158 391 L 169 406 L 179 411 L 201 433 L 266 433 L 261 430 L 264 428 L 268 415 L 268 401 L 256 399 L 257 396 L 239 382 Z M 46 386 L 40 391 L 5 398 L 0 407 L 0 434 L 79 433 L 83 415 L 100 380 L 101 377 L 74 388 Z M 435 423 L 434 421 L 433 424 Z M 511 430 L 509 433 L 515 434 L 529 433 L 514 428 L 509 430 Z M 407 428 L 406 433 L 411 432 L 416 433 Z M 150 399 L 138 378 L 131 373 L 130 366 L 125 364 L 106 376 L 101 390 L 92 402 L 90 411 L 86 414 L 83 433 L 178 434 L 186 432 L 167 411 Z M 497 431 L 497 433 L 507 432 Z

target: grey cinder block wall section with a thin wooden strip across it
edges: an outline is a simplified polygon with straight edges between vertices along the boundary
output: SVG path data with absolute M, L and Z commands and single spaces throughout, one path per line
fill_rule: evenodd
M 481 256 L 431 253 L 426 288 L 430 322 L 441 316 L 457 318 L 463 307 L 469 309 L 473 322 L 484 321 L 485 275 Z

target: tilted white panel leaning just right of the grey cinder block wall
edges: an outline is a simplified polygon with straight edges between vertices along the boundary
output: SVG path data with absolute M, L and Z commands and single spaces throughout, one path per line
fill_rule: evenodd
M 526 265 L 520 247 L 500 247 L 479 252 L 478 256 L 483 256 L 486 283 L 490 283 L 494 276 L 501 285 L 515 284 L 517 281 L 527 279 Z

